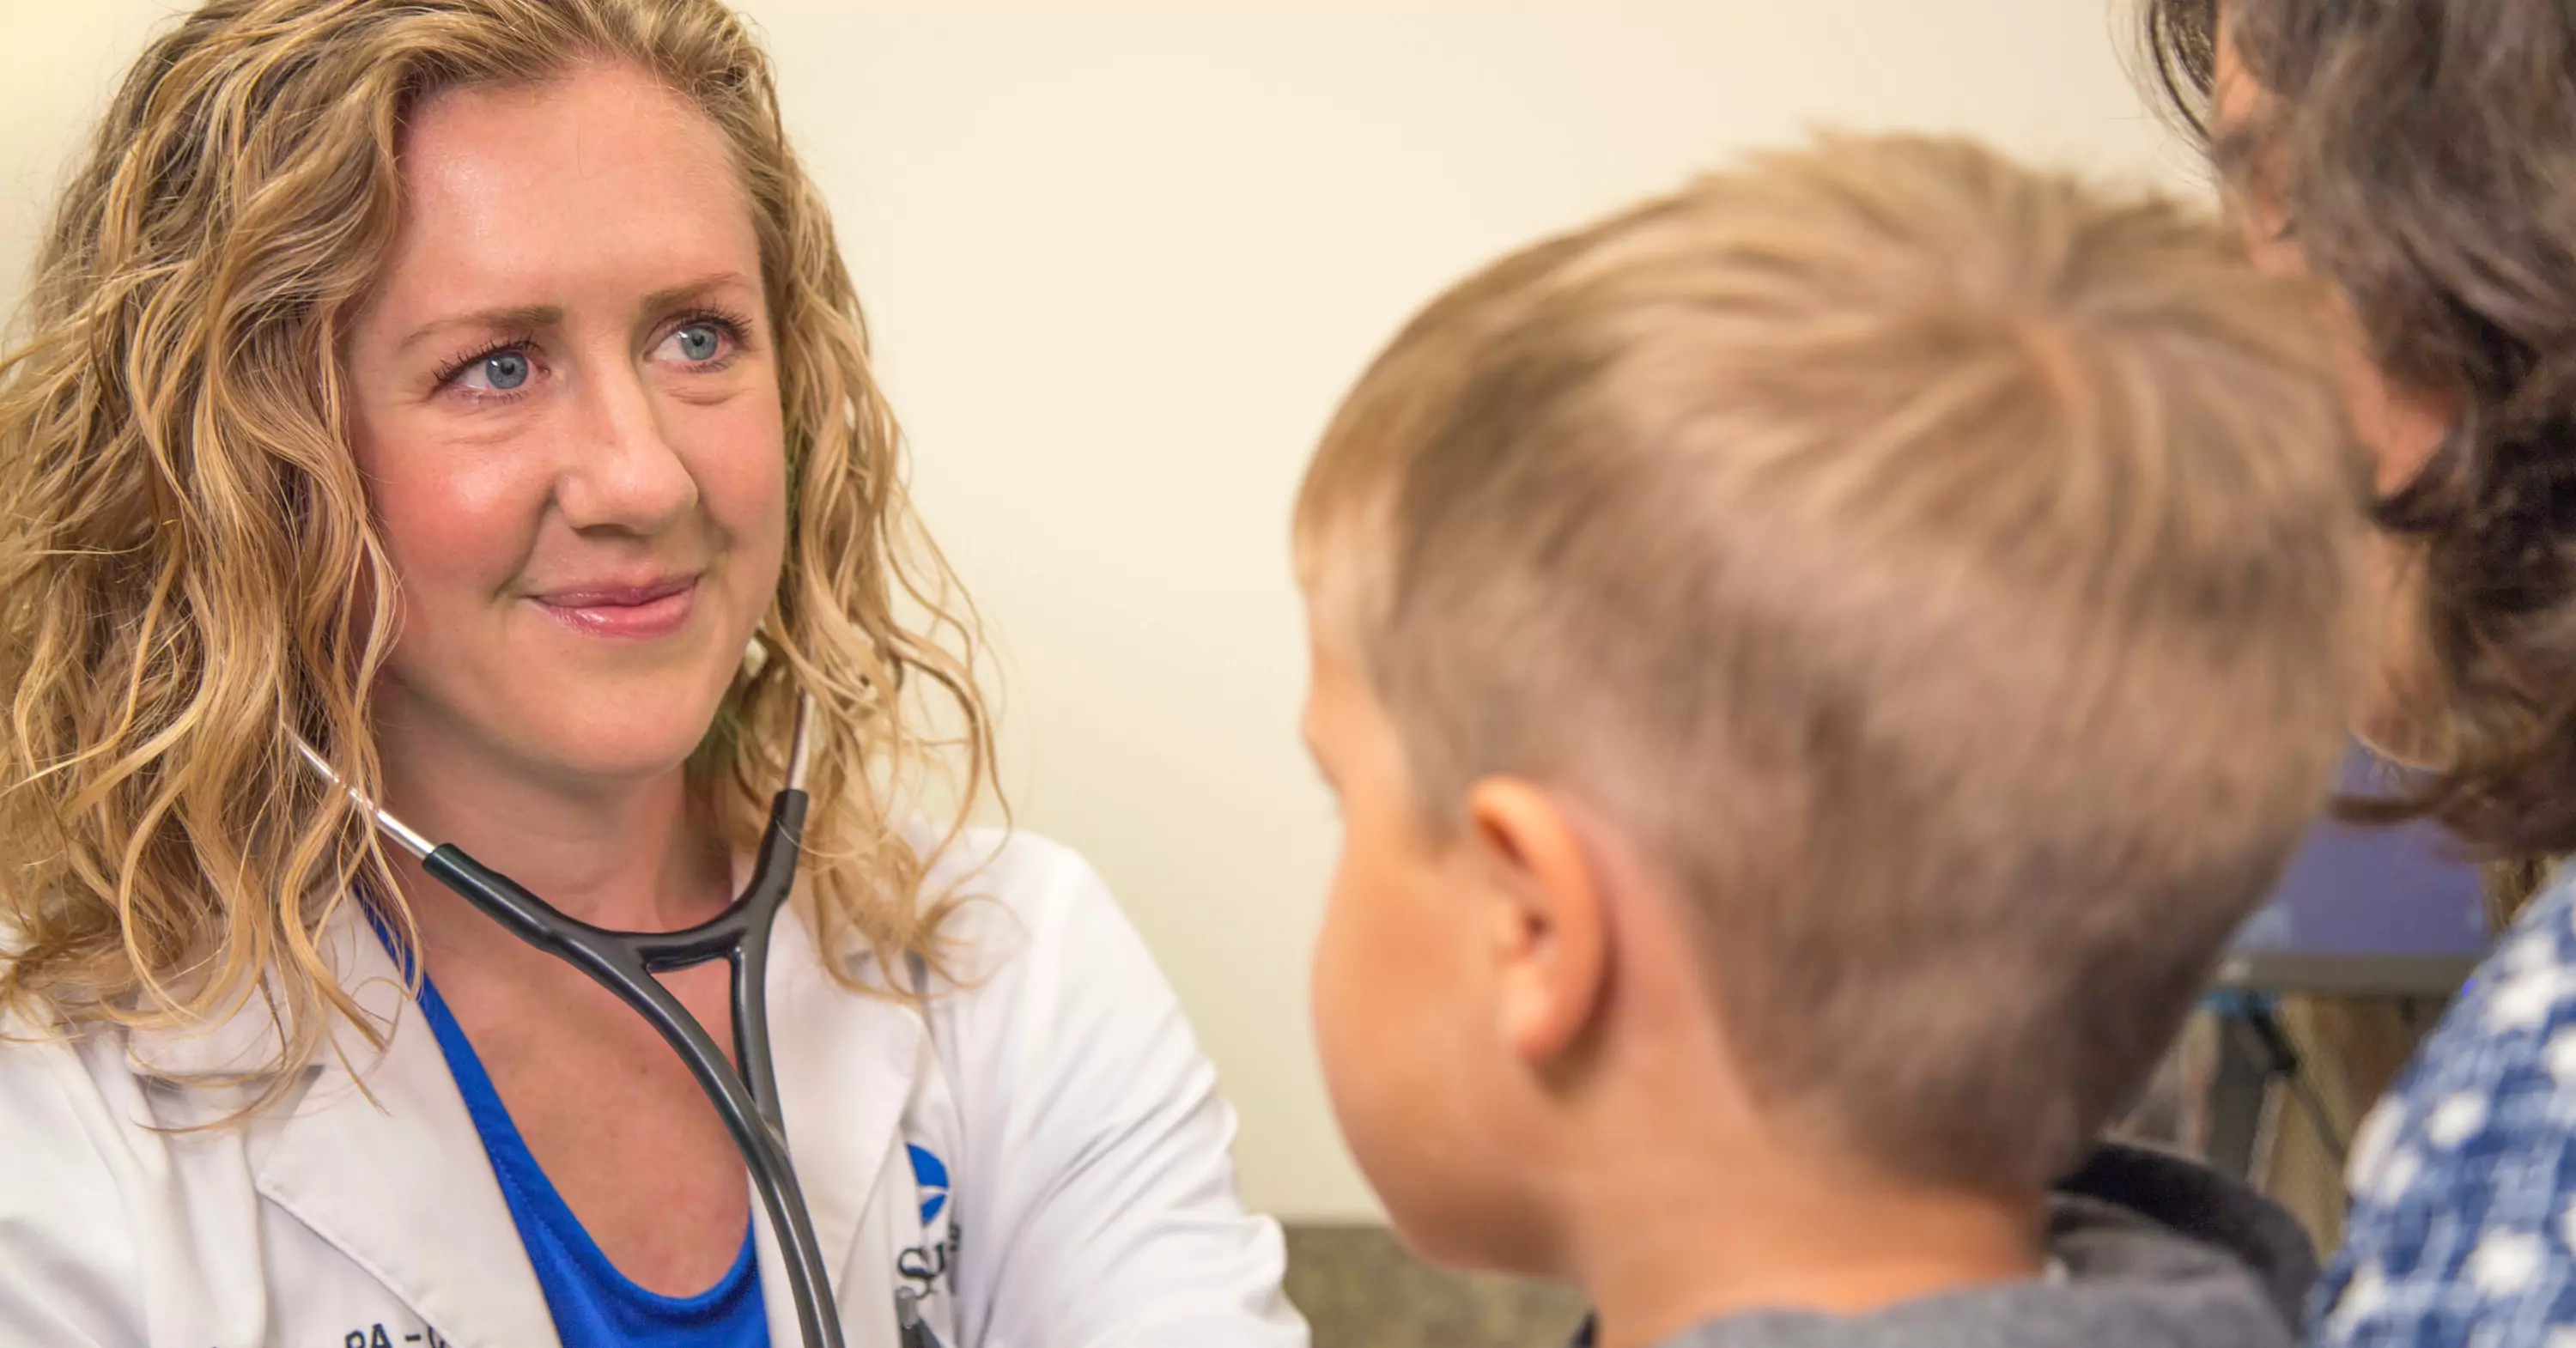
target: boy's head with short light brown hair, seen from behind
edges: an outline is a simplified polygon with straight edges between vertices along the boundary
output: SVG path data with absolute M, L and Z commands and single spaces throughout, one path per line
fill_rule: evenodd
M 1316 1018 L 1396 1222 L 1546 1263 L 1551 1111 L 1674 1067 L 2043 1188 L 2326 791 L 2362 497 L 2303 291 L 1963 142 L 1757 157 L 1437 299 L 1296 515 Z M 1708 1062 L 1623 1057 L 1677 1013 Z

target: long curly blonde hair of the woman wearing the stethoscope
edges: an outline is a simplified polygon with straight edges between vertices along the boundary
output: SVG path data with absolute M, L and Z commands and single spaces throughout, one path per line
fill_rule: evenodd
M 268 997 L 309 1062 L 361 1028 L 322 930 L 379 894 L 368 688 L 397 593 L 337 345 L 402 219 L 422 98 L 608 59 L 698 106 L 752 201 L 775 325 L 791 536 L 693 758 L 750 845 L 817 698 L 811 920 L 884 967 L 938 954 L 938 848 L 899 833 L 930 776 L 992 789 L 974 613 L 920 534 L 822 193 L 768 57 L 716 0 L 214 0 L 126 75 L 64 188 L 21 343 L 0 358 L 0 1010 L 70 1028 L 188 1023 Z M 909 613 L 907 621 L 902 613 Z M 374 1034 L 374 1028 L 366 1028 Z

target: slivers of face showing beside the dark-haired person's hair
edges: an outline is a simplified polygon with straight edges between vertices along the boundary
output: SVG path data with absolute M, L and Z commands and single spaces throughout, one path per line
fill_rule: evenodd
M 2239 59 L 2236 44 L 2228 36 L 2228 8 L 2221 5 L 2213 108 L 2218 134 L 2251 121 L 2267 98 Z M 2282 273 L 2308 273 L 2308 255 L 2298 245 L 2298 222 L 2287 219 L 2280 201 L 2239 196 L 2233 214 L 2246 232 L 2246 245 L 2257 265 Z M 2342 304 L 2334 309 L 2334 345 L 2352 433 L 2360 436 L 2378 464 L 2378 492 L 2396 492 L 2432 459 L 2460 410 L 2458 400 L 2391 381 L 2380 371 L 2360 320 Z M 2362 706 L 2354 711 L 2354 729 L 2393 760 L 2439 763 L 2442 693 L 2432 673 L 2434 665 L 2424 634 L 2421 546 L 2380 534 L 2370 549 L 2370 570 L 2383 613 L 2380 655 L 2378 673 L 2362 696 Z

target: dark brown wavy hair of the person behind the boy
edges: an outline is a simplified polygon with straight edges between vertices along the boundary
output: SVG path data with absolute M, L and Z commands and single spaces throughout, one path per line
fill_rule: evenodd
M 2393 812 L 2527 894 L 2576 853 L 2576 8 L 2146 0 L 2166 103 L 2275 201 L 2378 366 L 2458 397 L 2378 505 L 2419 544 L 2442 763 Z M 2213 126 L 2218 26 L 2264 98 Z M 2512 897 L 2509 897 L 2512 902 Z

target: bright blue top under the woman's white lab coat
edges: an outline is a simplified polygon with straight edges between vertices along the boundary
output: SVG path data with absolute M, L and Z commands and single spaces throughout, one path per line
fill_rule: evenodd
M 466 1098 L 484 1155 L 492 1157 L 564 1348 L 768 1348 L 770 1322 L 760 1304 L 760 1263 L 752 1260 L 750 1232 L 742 1235 L 734 1268 L 696 1296 L 662 1296 L 629 1281 L 538 1170 L 474 1044 L 428 979 L 420 982 L 420 1010 Z

